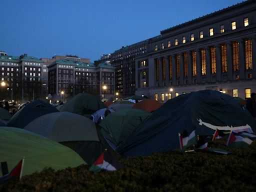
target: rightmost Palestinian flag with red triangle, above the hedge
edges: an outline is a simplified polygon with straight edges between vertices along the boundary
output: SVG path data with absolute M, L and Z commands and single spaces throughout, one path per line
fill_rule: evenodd
M 231 131 L 228 136 L 226 145 L 231 147 L 236 147 L 236 148 L 244 148 L 249 146 L 251 143 L 252 143 L 251 139 L 240 136 L 239 133 Z

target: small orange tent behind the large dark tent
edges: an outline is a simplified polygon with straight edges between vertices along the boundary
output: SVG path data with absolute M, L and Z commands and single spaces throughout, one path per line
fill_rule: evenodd
M 152 112 L 159 108 L 162 104 L 153 99 L 144 99 L 135 103 L 132 108 L 142 109 L 147 112 Z

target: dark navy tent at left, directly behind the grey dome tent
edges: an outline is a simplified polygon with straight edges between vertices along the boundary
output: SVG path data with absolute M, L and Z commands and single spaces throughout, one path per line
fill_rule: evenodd
M 43 100 L 33 100 L 19 109 L 9 120 L 7 126 L 24 128 L 33 119 L 51 112 L 58 112 L 56 107 Z

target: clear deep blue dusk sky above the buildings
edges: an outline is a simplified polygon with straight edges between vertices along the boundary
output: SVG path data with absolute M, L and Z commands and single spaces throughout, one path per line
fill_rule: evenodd
M 0 0 L 0 50 L 91 61 L 243 0 Z

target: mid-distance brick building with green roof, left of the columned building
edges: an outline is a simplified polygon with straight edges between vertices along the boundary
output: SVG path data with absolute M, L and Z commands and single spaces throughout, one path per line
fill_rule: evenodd
M 114 93 L 114 67 L 66 59 L 55 60 L 48 65 L 48 93 L 53 99 L 65 101 L 81 92 L 110 98 Z

